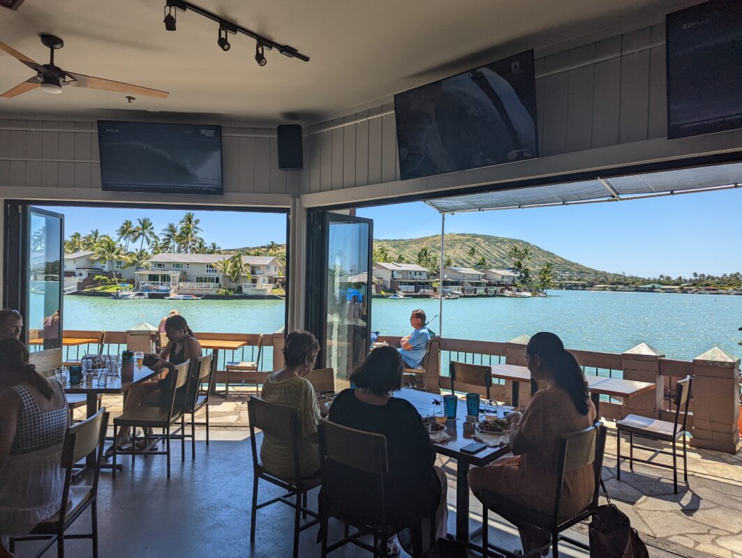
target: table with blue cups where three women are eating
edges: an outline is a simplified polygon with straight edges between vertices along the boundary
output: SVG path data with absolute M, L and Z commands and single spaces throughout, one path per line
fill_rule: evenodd
M 426 413 L 427 409 L 432 411 L 433 399 L 443 402 L 443 396 L 425 391 L 418 391 L 408 388 L 402 388 L 395 393 L 395 397 L 406 399 L 418 409 L 421 414 Z M 430 411 L 427 411 L 429 414 Z M 464 454 L 461 451 L 465 445 L 473 442 L 473 434 L 464 434 L 464 419 L 466 418 L 466 401 L 459 399 L 456 408 L 456 421 L 446 422 L 446 431 L 450 436 L 444 442 L 433 442 L 433 448 L 436 453 L 453 457 L 456 459 L 456 539 L 468 543 L 469 539 L 469 479 L 467 474 L 472 465 L 482 467 L 493 462 L 495 459 L 502 457 L 510 452 L 509 446 L 502 448 L 486 448 L 478 454 Z

